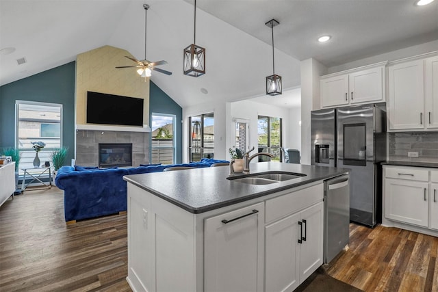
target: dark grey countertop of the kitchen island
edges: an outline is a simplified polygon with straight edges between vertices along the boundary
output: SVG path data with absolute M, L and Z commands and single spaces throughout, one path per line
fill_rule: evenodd
M 123 178 L 159 198 L 197 214 L 339 176 L 348 172 L 348 169 L 279 162 L 250 164 L 251 174 L 268 171 L 295 172 L 306 174 L 306 176 L 269 185 L 249 185 L 228 180 L 229 166 L 220 166 L 132 174 Z M 242 174 L 235 174 L 235 176 L 238 175 Z

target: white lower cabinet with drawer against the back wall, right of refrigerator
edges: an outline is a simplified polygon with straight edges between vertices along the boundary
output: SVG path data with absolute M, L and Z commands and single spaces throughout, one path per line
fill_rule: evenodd
M 383 165 L 383 203 L 384 225 L 438 236 L 438 170 Z

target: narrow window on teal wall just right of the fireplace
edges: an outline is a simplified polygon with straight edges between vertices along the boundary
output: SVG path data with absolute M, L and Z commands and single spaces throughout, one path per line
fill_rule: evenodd
M 175 120 L 174 115 L 152 114 L 151 163 L 175 163 Z

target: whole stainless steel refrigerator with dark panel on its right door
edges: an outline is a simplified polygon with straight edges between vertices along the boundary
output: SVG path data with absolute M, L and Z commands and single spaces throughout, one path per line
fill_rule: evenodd
M 312 111 L 311 140 L 313 165 L 351 170 L 350 221 L 370 227 L 381 222 L 385 103 Z

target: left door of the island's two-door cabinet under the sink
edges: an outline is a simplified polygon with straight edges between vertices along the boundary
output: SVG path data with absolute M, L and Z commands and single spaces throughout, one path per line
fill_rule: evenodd
M 265 291 L 294 291 L 300 284 L 300 213 L 266 226 Z

